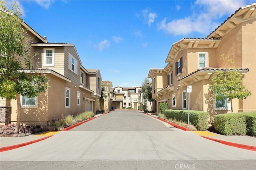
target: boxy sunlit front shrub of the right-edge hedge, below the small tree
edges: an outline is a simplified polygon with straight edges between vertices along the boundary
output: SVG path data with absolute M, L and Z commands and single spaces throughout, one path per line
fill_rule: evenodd
M 246 134 L 246 118 L 242 113 L 226 113 L 214 116 L 214 128 L 221 134 Z

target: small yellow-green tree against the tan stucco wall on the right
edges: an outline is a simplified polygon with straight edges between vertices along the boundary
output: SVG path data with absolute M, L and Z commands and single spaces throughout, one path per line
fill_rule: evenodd
M 234 61 L 224 54 L 222 54 L 221 59 L 225 63 L 225 69 L 224 71 L 218 71 L 217 75 L 211 80 L 210 90 L 214 93 L 216 99 L 227 99 L 231 104 L 231 112 L 233 113 L 232 99 L 243 100 L 252 93 L 242 85 L 243 75 L 237 71 L 237 68 L 227 68 Z

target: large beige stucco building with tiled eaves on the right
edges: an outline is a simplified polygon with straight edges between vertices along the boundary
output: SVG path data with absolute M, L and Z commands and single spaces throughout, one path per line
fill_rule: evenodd
M 209 112 L 211 118 L 229 113 L 230 104 L 216 101 L 210 80 L 225 68 L 221 55 L 234 60 L 229 68 L 243 74 L 243 85 L 252 95 L 232 100 L 234 112 L 256 111 L 256 3 L 239 8 L 206 38 L 183 38 L 172 44 L 165 68 L 150 69 L 152 97 L 169 109 L 188 109 L 187 85 L 192 86 L 190 109 Z

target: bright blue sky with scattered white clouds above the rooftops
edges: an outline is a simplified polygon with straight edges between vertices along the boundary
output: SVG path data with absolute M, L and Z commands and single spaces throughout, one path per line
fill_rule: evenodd
M 6 0 L 8 4 L 12 1 Z M 243 0 L 20 0 L 24 19 L 48 42 L 74 43 L 86 69 L 100 69 L 113 87 L 140 86 L 150 68 L 164 68 L 174 42 L 205 38 Z M 150 79 L 151 81 L 151 79 Z

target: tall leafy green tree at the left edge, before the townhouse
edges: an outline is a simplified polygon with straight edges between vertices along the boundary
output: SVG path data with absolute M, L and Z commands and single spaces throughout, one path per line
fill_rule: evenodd
M 30 40 L 22 28 L 16 2 L 11 9 L 0 2 L 0 97 L 17 101 L 17 132 L 20 127 L 20 96 L 38 96 L 48 88 L 48 77 L 31 65 Z

